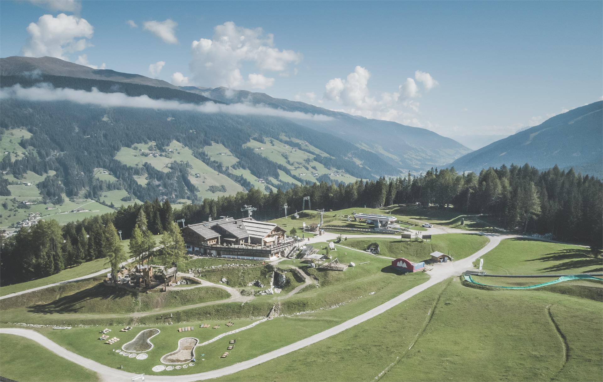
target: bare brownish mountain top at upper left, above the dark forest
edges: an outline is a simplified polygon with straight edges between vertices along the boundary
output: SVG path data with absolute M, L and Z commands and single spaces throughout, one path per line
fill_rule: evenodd
M 169 87 L 178 89 L 166 81 L 154 80 L 139 74 L 116 72 L 110 69 L 92 69 L 80 64 L 63 61 L 54 57 L 20 57 L 11 56 L 0 59 L 0 75 L 39 77 L 54 75 L 63 77 L 89 78 L 90 80 L 117 81 L 130 84 Z

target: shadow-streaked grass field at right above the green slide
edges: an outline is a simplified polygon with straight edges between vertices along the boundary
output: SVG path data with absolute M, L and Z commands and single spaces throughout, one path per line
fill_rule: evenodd
M 506 239 L 484 255 L 484 271 L 502 275 L 603 272 L 599 254 L 575 245 Z

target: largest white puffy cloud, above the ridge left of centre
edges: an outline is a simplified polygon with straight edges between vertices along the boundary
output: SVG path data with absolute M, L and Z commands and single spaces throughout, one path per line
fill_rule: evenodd
M 238 27 L 234 22 L 217 25 L 212 39 L 193 41 L 191 50 L 195 81 L 211 87 L 245 85 L 241 69 L 246 61 L 260 71 L 285 72 L 289 64 L 301 60 L 298 52 L 275 48 L 273 34 L 262 28 Z M 248 86 L 254 84 L 248 79 Z

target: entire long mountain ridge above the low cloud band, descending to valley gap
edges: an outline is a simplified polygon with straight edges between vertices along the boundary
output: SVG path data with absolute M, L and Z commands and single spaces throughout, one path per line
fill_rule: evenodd
M 38 64 L 38 66 L 36 66 Z M 247 102 L 254 105 L 266 105 L 285 111 L 300 111 L 309 114 L 321 114 L 332 117 L 332 121 L 303 121 L 295 120 L 299 125 L 311 128 L 321 133 L 329 133 L 357 146 L 359 149 L 373 152 L 383 161 L 399 169 L 399 173 L 412 172 L 419 174 L 432 166 L 441 166 L 470 152 L 469 148 L 453 139 L 440 136 L 431 130 L 409 127 L 391 121 L 367 119 L 361 116 L 352 116 L 339 111 L 332 111 L 315 105 L 299 101 L 273 98 L 265 93 L 248 92 L 247 90 L 234 90 L 226 88 L 209 89 L 204 87 L 177 87 L 162 80 L 136 75 L 115 72 L 109 69 L 92 69 L 87 66 L 69 63 L 58 58 L 18 57 L 0 58 L 0 75 L 4 77 L 2 86 L 10 86 L 19 81 L 37 81 L 25 73 L 39 70 L 39 74 L 51 78 L 51 83 L 57 87 L 69 87 L 69 78 L 89 80 L 87 89 L 93 86 L 92 81 L 114 81 L 115 83 L 131 84 L 130 94 L 140 95 L 143 89 L 133 89 L 132 86 L 153 86 L 157 89 L 170 89 L 171 92 L 162 92 L 167 99 L 179 99 L 191 102 L 191 96 L 198 99 L 192 102 L 213 101 L 226 104 Z M 75 77 L 74 77 L 75 76 Z M 62 77 L 62 78 L 57 78 Z M 10 80 L 9 80 L 10 78 Z M 41 79 L 39 79 L 40 82 Z M 81 82 L 81 81 L 80 81 Z M 105 86 L 101 92 L 121 92 Z M 191 95 L 186 96 L 185 94 Z M 151 96 L 151 98 L 153 98 Z

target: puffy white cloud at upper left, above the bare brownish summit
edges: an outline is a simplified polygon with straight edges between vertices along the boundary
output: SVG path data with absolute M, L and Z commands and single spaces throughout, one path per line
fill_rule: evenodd
M 51 56 L 69 61 L 66 54 L 83 51 L 92 46 L 86 39 L 92 38 L 94 28 L 85 19 L 60 13 L 40 16 L 38 22 L 27 27 L 30 40 L 22 48 L 27 57 Z

